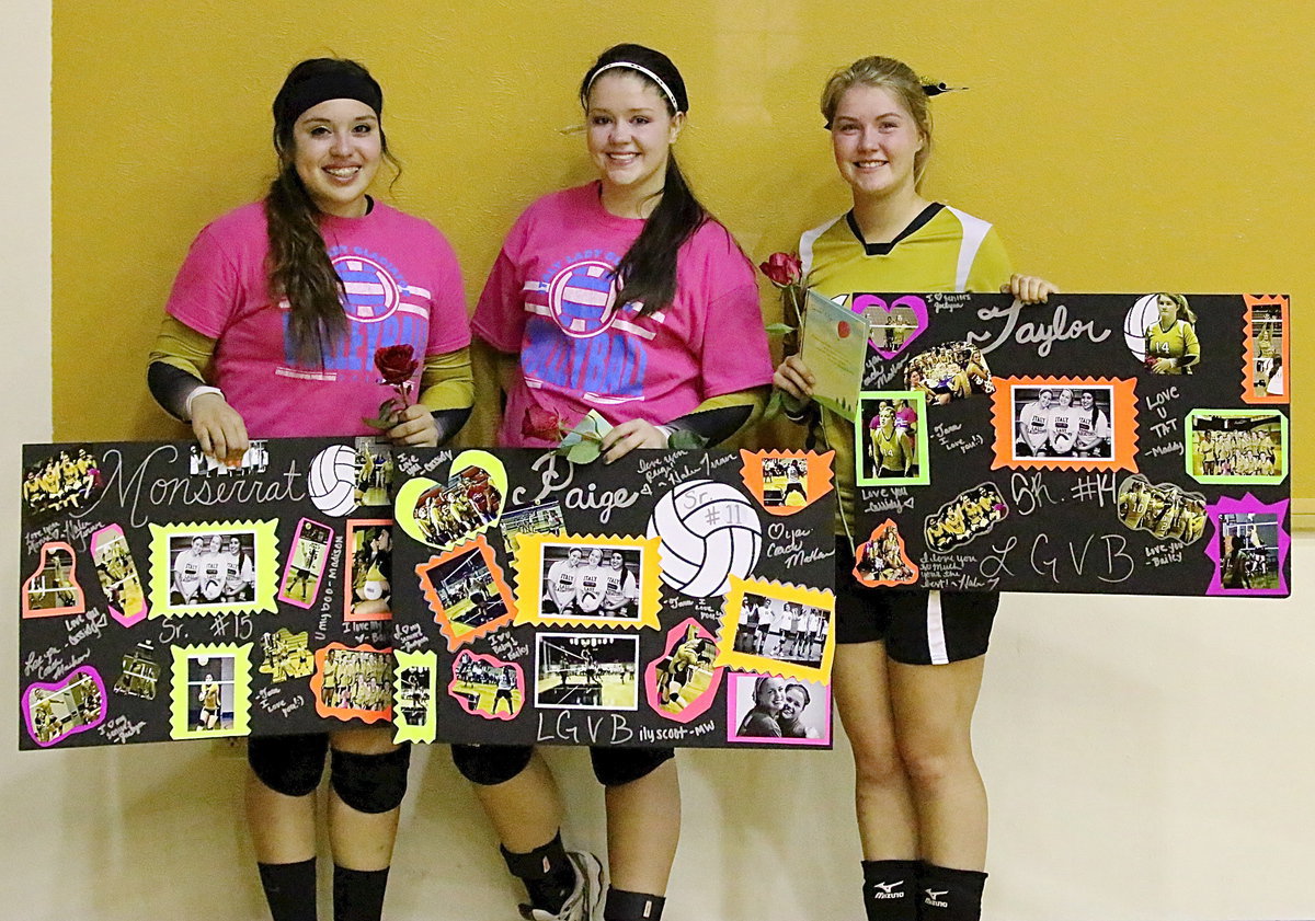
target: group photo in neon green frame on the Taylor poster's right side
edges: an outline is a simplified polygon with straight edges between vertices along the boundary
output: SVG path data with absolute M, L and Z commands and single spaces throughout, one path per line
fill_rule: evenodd
M 1291 441 L 1287 416 L 1277 410 L 1191 410 L 1184 427 L 1184 465 L 1198 483 L 1274 486 L 1287 478 Z

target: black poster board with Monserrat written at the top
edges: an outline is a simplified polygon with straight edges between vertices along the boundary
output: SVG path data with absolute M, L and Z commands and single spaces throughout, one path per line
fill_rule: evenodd
M 389 448 L 24 447 L 22 749 L 323 732 L 392 712 Z

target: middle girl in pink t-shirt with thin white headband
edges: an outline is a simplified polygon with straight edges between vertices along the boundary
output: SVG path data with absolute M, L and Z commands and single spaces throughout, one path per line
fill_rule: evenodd
M 604 461 L 676 440 L 717 443 L 772 380 L 748 259 L 689 191 L 672 145 L 680 71 L 638 45 L 605 51 L 580 85 L 598 179 L 540 198 L 512 227 L 475 311 L 501 357 L 498 441 L 550 447 L 590 410 L 615 427 Z M 679 438 L 677 438 L 679 436 Z M 680 836 L 672 752 L 592 750 L 608 788 L 608 921 L 658 921 Z M 529 746 L 452 746 L 476 783 L 531 918 L 594 917 L 597 858 L 568 854 L 552 775 Z

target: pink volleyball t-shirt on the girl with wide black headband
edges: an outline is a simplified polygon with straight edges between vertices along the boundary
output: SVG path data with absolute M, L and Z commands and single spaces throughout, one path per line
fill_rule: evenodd
M 377 348 L 410 344 L 422 360 L 471 342 L 456 256 L 433 225 L 375 201 L 359 218 L 323 215 L 320 231 L 348 319 L 322 364 L 295 357 L 288 305 L 270 296 L 262 204 L 201 230 L 174 280 L 166 309 L 217 340 L 210 382 L 252 438 L 376 434 L 362 419 L 393 393 L 379 382 Z

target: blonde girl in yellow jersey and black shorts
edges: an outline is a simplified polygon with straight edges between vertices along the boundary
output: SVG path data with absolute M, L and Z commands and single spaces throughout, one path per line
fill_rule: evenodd
M 992 225 L 919 193 L 931 154 L 927 99 L 944 89 L 890 58 L 863 58 L 827 81 L 822 114 L 853 208 L 800 239 L 810 288 L 822 296 L 1002 290 L 1036 302 L 1056 292 L 1011 273 Z M 999 595 L 860 586 L 847 524 L 853 423 L 809 402 L 814 378 L 798 355 L 775 382 L 836 452 L 832 692 L 853 749 L 868 918 L 977 918 L 986 791 L 970 729 Z

